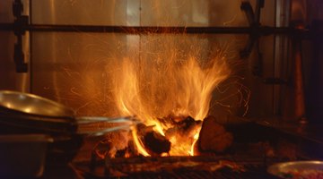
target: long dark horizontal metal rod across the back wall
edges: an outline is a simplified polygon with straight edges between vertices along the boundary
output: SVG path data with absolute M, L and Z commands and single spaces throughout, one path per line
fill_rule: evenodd
M 29 24 L 15 25 L 13 23 L 0 23 L 0 30 L 29 30 L 29 31 L 58 31 L 58 32 L 113 32 L 127 34 L 153 34 L 153 33 L 196 33 L 196 34 L 306 34 L 309 30 L 286 27 L 156 27 L 156 26 L 91 26 L 91 25 L 52 25 Z

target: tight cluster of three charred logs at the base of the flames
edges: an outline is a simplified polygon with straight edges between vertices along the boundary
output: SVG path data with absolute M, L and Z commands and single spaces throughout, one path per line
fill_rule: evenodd
M 173 118 L 170 117 L 169 119 Z M 171 144 L 176 145 L 174 142 L 192 139 L 193 141 L 188 142 L 191 146 L 187 148 L 190 149 L 188 154 L 191 156 L 203 151 L 223 152 L 231 146 L 232 134 L 226 132 L 222 125 L 216 123 L 215 118 L 212 116 L 206 117 L 203 123 L 202 121 L 194 120 L 190 116 L 184 117 L 178 122 L 174 119 L 173 121 L 175 122 L 173 122 L 172 127 L 164 132 L 165 135 L 154 132 L 152 127 L 142 125 L 139 127 L 140 134 L 138 136 L 140 136 L 139 138 L 143 141 L 144 148 L 149 151 L 148 153 L 151 156 L 170 156 Z M 196 136 L 199 136 L 197 141 Z M 185 143 L 187 142 L 182 142 L 182 144 Z

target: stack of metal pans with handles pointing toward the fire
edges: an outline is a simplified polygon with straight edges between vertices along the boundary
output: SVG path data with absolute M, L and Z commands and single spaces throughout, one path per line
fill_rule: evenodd
M 133 117 L 76 117 L 72 109 L 48 98 L 0 90 L 0 134 L 49 136 L 53 139 L 48 143 L 47 157 L 50 161 L 70 161 L 82 146 L 84 136 L 130 130 L 132 124 L 135 124 Z

